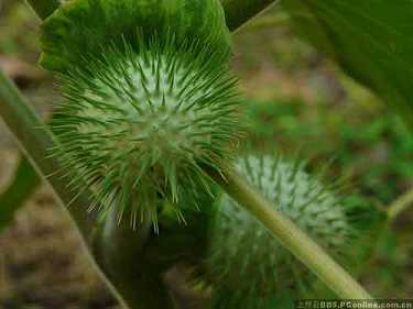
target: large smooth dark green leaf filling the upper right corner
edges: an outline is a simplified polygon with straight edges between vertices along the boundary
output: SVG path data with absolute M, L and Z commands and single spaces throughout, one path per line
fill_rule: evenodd
M 284 0 L 297 31 L 413 125 L 413 1 Z

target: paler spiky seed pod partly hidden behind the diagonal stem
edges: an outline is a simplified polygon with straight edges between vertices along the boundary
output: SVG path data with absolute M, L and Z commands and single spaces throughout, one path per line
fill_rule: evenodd
M 303 164 L 251 156 L 236 168 L 328 252 L 344 250 L 354 234 L 344 203 Z M 300 293 L 312 275 L 230 197 L 222 196 L 216 211 L 207 258 L 213 308 L 285 308 L 282 298 Z

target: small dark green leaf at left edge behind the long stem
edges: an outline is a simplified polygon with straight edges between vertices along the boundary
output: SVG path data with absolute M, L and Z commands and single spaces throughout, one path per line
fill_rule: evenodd
M 41 179 L 31 163 L 22 157 L 15 170 L 14 179 L 0 195 L 0 231 L 9 225 L 15 212 L 24 206 Z

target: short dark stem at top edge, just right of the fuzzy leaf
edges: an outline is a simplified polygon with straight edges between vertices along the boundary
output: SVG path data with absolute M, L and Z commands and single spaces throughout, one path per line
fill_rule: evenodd
M 274 0 L 221 0 L 227 25 L 236 31 L 251 18 L 267 9 Z

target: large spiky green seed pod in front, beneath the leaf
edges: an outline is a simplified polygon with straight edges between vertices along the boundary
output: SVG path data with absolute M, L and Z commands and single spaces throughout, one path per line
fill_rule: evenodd
M 128 211 L 132 224 L 156 228 L 156 200 L 207 189 L 199 165 L 219 170 L 229 156 L 239 134 L 236 80 L 221 54 L 196 40 L 176 44 L 173 34 L 101 55 L 63 76 L 57 154 L 96 205 L 118 205 L 119 218 Z

